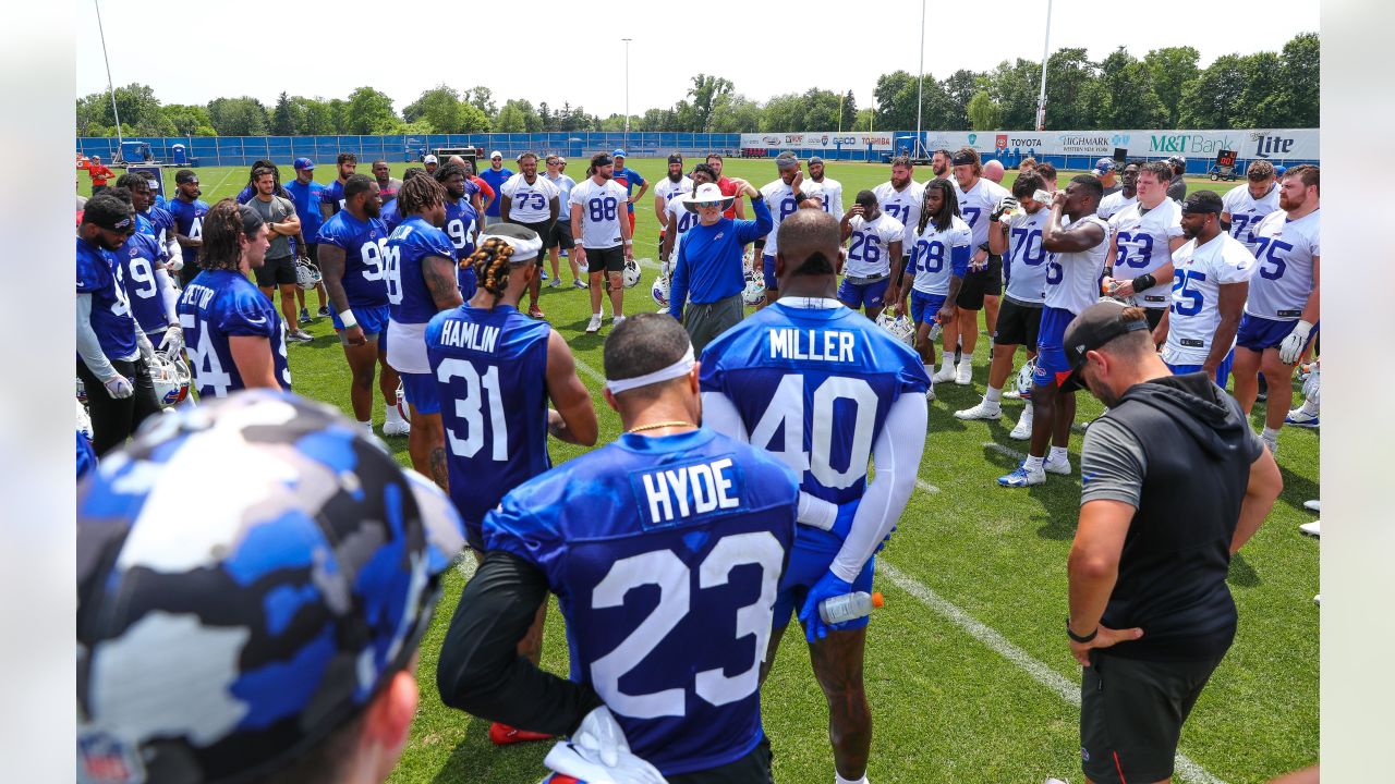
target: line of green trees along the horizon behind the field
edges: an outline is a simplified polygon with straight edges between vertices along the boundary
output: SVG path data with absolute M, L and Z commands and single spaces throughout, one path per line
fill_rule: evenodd
M 1279 52 L 1225 54 L 1201 68 L 1191 46 L 1154 49 L 1134 57 L 1123 46 L 1095 63 L 1085 49 L 1057 49 L 1046 61 L 1048 128 L 1251 128 L 1318 127 L 1320 47 L 1299 33 Z M 632 131 L 766 133 L 791 130 L 910 130 L 923 91 L 921 127 L 976 131 L 1035 126 L 1041 64 L 1002 61 L 990 71 L 961 68 L 937 80 L 893 71 L 877 77 L 873 106 L 858 107 L 852 91 L 809 88 L 752 100 L 730 80 L 698 74 L 668 107 L 629 117 Z M 598 117 L 564 102 L 536 106 L 508 99 L 499 106 L 487 86 L 441 84 L 396 112 L 371 86 L 347 98 L 285 92 L 273 106 L 250 96 L 206 105 L 160 103 L 148 85 L 116 88 L 121 133 L 141 137 L 413 135 L 472 133 L 621 131 L 624 114 Z M 95 92 L 77 100 L 77 134 L 114 137 L 112 99 Z

